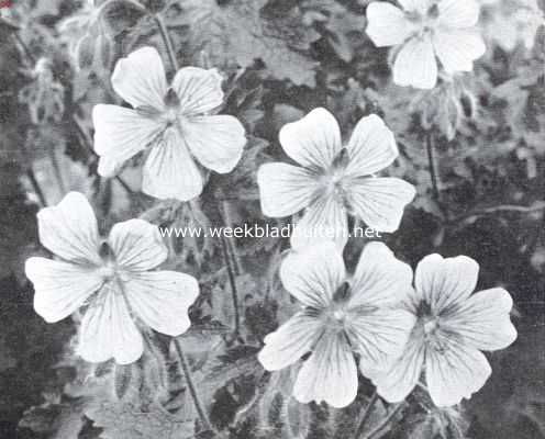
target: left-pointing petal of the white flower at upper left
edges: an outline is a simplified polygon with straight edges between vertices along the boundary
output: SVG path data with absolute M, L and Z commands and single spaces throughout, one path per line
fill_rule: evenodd
M 165 130 L 158 119 L 118 105 L 94 105 L 92 121 L 99 173 L 104 177 L 111 177 L 122 164 L 153 145 Z

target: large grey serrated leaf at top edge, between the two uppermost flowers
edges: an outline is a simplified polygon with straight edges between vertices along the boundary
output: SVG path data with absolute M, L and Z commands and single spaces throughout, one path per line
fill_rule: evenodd
M 297 7 L 272 15 L 264 13 L 267 3 L 181 0 L 179 20 L 170 25 L 190 26 L 192 48 L 205 50 L 214 65 L 234 61 L 245 68 L 260 59 L 274 78 L 313 87 L 316 63 L 310 57 L 310 45 L 320 34 L 301 25 Z

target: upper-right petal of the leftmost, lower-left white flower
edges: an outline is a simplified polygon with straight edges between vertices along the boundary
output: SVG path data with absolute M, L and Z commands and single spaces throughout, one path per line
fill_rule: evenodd
M 151 270 L 163 263 L 168 256 L 159 229 L 144 219 L 129 219 L 115 224 L 108 243 L 116 264 L 123 270 Z

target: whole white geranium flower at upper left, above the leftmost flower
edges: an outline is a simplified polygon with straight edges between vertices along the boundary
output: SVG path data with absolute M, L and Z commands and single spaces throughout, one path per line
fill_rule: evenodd
M 168 86 L 163 61 L 153 47 L 119 60 L 112 87 L 133 109 L 94 106 L 99 173 L 111 176 L 146 149 L 145 193 L 181 201 L 198 196 L 203 179 L 194 159 L 226 173 L 238 162 L 246 143 L 244 127 L 235 117 L 208 114 L 223 102 L 221 82 L 215 69 L 185 67 Z

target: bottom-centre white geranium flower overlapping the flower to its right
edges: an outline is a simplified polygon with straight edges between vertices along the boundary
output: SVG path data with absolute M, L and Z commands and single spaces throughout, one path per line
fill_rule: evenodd
M 293 396 L 301 403 L 351 404 L 358 387 L 354 353 L 366 374 L 382 368 L 407 342 L 415 318 L 393 306 L 411 290 L 412 270 L 383 244 L 369 243 L 354 277 L 347 278 L 341 251 L 322 241 L 290 254 L 280 278 L 302 309 L 265 338 L 259 361 L 276 371 L 312 352 Z

